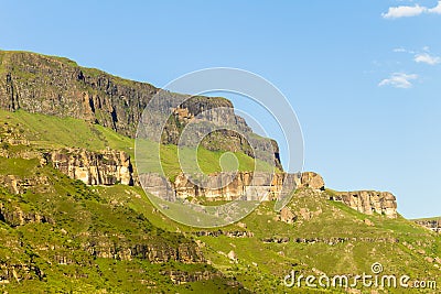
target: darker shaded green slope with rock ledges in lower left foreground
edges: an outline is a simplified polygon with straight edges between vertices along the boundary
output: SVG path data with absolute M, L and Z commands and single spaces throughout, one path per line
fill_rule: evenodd
M 11 194 L 0 188 L 2 211 L 9 217 L 0 221 L 0 276 L 14 269 L 17 276 L 0 284 L 9 293 L 189 293 L 203 286 L 237 292 L 223 276 L 186 285 L 172 283 L 163 272 L 189 274 L 216 270 L 204 263 L 178 261 L 152 263 L 135 257 L 97 258 L 85 244 L 96 243 L 101 250 L 123 250 L 149 246 L 175 250 L 179 246 L 196 244 L 181 233 L 155 227 L 128 206 L 110 203 L 94 188 L 73 181 L 34 160 L 10 159 L 12 168 L 0 174 L 49 178 L 49 187 L 29 188 L 24 194 Z M 6 160 L 1 159 L 1 163 Z M 11 216 L 12 215 L 12 216 Z M 33 216 L 44 217 L 34 221 Z

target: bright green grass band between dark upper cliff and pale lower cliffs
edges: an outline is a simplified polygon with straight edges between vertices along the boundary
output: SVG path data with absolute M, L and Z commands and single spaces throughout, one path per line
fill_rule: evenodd
M 101 151 L 106 148 L 126 151 L 135 157 L 135 140 L 123 137 L 108 128 L 99 124 L 86 122 L 73 118 L 57 118 L 40 113 L 29 113 L 26 111 L 9 112 L 0 110 L 0 128 L 2 128 L 1 138 L 17 138 L 25 140 L 30 146 L 29 150 L 53 150 L 62 148 L 84 148 L 90 151 Z M 7 144 L 7 143 L 3 143 Z M 158 144 L 153 142 L 144 142 L 143 148 L 148 151 L 158 149 Z M 8 146 L 11 149 L 23 149 L 23 146 Z M 174 178 L 180 172 L 178 160 L 178 146 L 173 144 L 161 145 L 161 161 L 165 174 L 170 178 Z M 189 150 L 190 152 L 190 150 Z M 222 172 L 223 167 L 235 167 L 233 160 L 227 160 L 227 164 L 222 164 L 220 151 L 208 151 L 202 146 L 197 149 L 198 165 L 205 173 Z M 238 171 L 254 171 L 255 164 L 259 171 L 270 171 L 272 167 L 261 161 L 256 161 L 250 156 L 241 153 L 233 153 L 238 161 Z M 146 161 L 154 161 L 154 152 L 148 152 Z M 132 164 L 136 164 L 132 161 Z M 144 165 L 144 167 L 154 166 L 154 164 Z M 146 171 L 144 168 L 143 171 Z M 159 172 L 152 170 L 152 172 Z

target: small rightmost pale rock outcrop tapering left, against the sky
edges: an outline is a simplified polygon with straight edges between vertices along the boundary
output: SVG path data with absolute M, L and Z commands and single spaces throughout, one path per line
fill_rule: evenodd
M 342 202 L 366 215 L 379 214 L 388 218 L 397 217 L 396 197 L 389 192 L 343 192 L 331 196 L 331 200 Z

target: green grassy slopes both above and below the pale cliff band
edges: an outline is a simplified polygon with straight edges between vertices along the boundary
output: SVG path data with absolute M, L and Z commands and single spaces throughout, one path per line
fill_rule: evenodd
M 329 200 L 332 190 L 298 190 L 288 205 L 293 224 L 280 220 L 273 203 L 263 203 L 238 224 L 190 228 L 159 213 L 140 187 L 85 186 L 32 159 L 33 152 L 60 148 L 133 154 L 131 139 L 82 120 L 24 111 L 0 111 L 0 151 L 9 155 L 0 156 L 0 277 L 10 280 L 0 288 L 9 293 L 345 293 L 304 284 L 288 288 L 282 279 L 291 270 L 370 273 L 375 262 L 386 274 L 441 283 L 440 235 L 402 217 L 359 214 Z M 179 171 L 176 146 L 161 152 L 172 177 Z M 220 153 L 198 153 L 203 170 L 220 171 Z M 236 155 L 239 168 L 254 166 L 252 159 Z M 22 193 L 13 193 L 11 177 L 28 183 Z M 196 260 L 185 262 L 187 257 Z M 197 281 L 172 281 L 180 275 Z

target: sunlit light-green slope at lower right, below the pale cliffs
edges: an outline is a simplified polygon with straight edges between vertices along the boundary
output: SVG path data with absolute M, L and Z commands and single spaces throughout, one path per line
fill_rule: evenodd
M 370 266 L 375 262 L 380 262 L 388 274 L 408 274 L 415 280 L 435 280 L 440 283 L 440 266 L 433 262 L 440 255 L 439 235 L 431 233 L 402 217 L 388 219 L 380 215 L 361 214 L 341 203 L 329 200 L 327 192 L 297 192 L 288 206 L 299 216 L 293 225 L 276 220 L 278 214 L 273 211 L 271 202 L 263 203 L 240 221 L 246 225 L 246 229 L 243 228 L 244 225 L 237 224 L 222 228 L 223 231 L 250 231 L 254 233 L 250 238 L 196 237 L 195 232 L 201 231 L 200 229 L 168 219 L 157 213 L 147 198 L 130 196 L 142 195 L 139 187 L 101 187 L 98 193 L 104 198 L 126 203 L 164 230 L 193 236 L 203 242 L 205 255 L 215 268 L 257 293 L 306 293 L 305 287 L 287 288 L 281 283 L 291 270 L 304 275 L 318 272 L 330 276 L 363 272 L 368 274 L 372 273 Z M 262 241 L 284 237 L 289 238 L 286 243 Z M 333 242 L 336 238 L 345 241 Z M 309 241 L 297 242 L 297 239 Z M 226 257 L 232 250 L 237 254 L 237 263 Z M 359 290 L 370 293 L 369 288 Z M 314 292 L 311 288 L 309 291 Z M 340 288 L 330 290 L 331 293 L 338 291 Z M 402 291 L 388 288 L 379 293 L 404 293 Z M 427 293 L 432 292 L 428 290 Z

